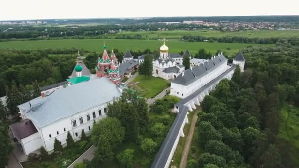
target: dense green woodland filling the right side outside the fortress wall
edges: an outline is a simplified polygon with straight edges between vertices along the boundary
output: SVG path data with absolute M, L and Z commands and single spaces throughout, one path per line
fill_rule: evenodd
M 202 102 L 201 155 L 189 168 L 295 168 L 299 149 L 279 137 L 280 110 L 299 106 L 299 41 L 243 50 L 246 70 L 222 80 Z

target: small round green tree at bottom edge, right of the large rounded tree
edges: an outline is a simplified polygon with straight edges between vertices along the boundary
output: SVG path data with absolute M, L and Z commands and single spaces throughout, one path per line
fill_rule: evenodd
M 117 157 L 118 161 L 124 168 L 133 168 L 134 167 L 134 150 L 126 149 L 120 152 Z

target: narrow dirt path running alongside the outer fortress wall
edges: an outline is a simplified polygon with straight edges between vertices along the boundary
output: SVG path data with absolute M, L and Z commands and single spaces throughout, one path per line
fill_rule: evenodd
M 185 147 L 184 147 L 183 154 L 181 156 L 179 168 L 186 168 L 187 167 L 189 150 L 190 150 L 190 147 L 191 147 L 193 133 L 194 133 L 197 118 L 198 118 L 197 112 L 195 112 L 194 115 L 193 115 L 193 118 L 192 118 L 192 123 L 191 123 L 191 127 L 190 127 L 190 130 L 189 130 L 189 133 L 188 133 L 188 137 L 187 137 L 187 140 L 185 142 Z

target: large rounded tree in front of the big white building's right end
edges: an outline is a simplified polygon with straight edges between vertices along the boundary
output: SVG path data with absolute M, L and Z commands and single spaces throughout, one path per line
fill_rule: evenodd
M 113 149 L 124 140 L 125 129 L 117 118 L 106 117 L 96 122 L 91 130 L 91 141 L 97 147 L 96 159 L 113 160 Z

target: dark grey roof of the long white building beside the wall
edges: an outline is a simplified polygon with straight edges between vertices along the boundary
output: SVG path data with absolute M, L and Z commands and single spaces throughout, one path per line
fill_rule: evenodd
M 193 68 L 185 70 L 172 82 L 176 84 L 189 85 L 197 79 L 213 71 L 223 63 L 227 63 L 227 58 L 225 58 L 223 55 L 215 56 L 213 60 L 209 59 L 209 61 L 204 62 L 203 65 L 201 64 L 200 66 L 195 66 Z

